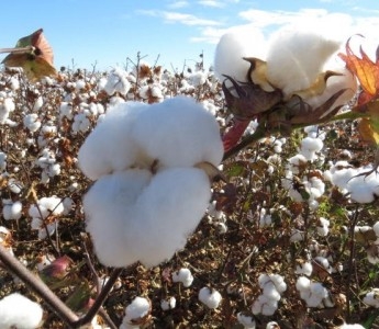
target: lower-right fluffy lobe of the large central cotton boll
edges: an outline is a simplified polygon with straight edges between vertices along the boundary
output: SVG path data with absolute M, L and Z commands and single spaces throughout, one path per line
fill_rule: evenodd
M 167 193 L 169 191 L 169 193 Z M 138 197 L 129 224 L 127 240 L 135 240 L 138 260 L 155 266 L 186 246 L 211 198 L 208 175 L 197 168 L 172 168 L 154 175 Z

